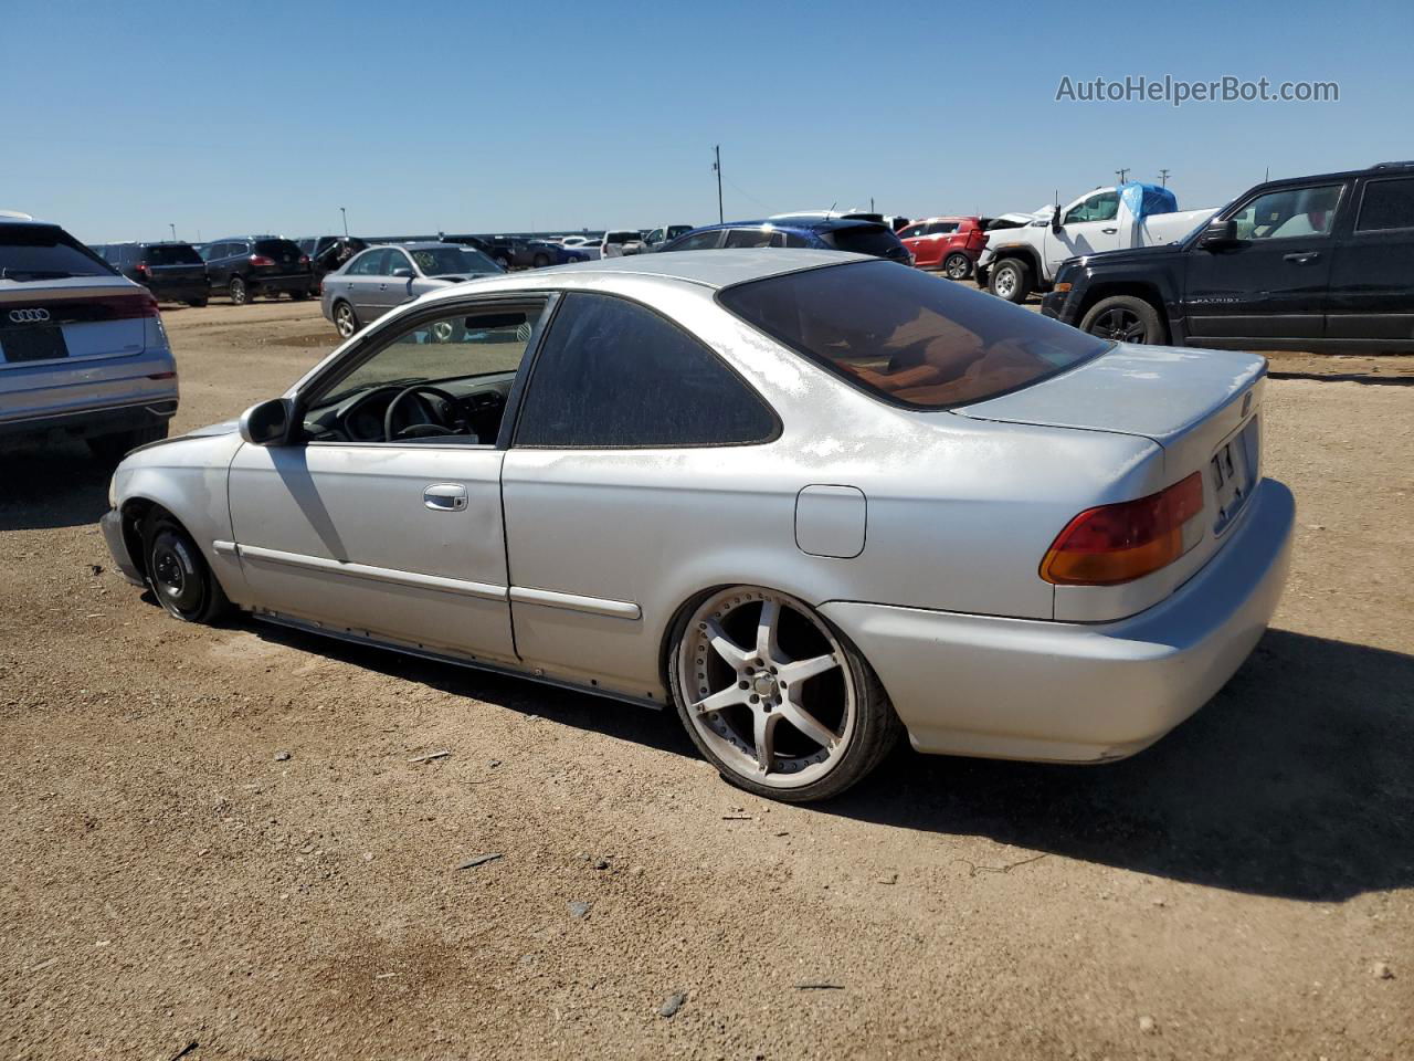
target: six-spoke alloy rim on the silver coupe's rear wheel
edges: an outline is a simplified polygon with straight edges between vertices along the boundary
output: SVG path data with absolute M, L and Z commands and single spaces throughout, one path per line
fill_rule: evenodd
M 839 639 L 806 604 L 737 587 L 687 624 L 677 693 L 697 736 L 745 779 L 800 788 L 850 747 L 858 690 Z

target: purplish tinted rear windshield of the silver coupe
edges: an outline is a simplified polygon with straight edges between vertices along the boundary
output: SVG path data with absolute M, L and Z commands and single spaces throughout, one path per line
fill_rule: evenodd
M 891 262 L 772 276 L 718 298 L 861 390 L 918 409 L 995 398 L 1111 345 Z

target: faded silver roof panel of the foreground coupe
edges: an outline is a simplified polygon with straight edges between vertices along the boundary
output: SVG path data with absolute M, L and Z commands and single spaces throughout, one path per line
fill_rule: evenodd
M 659 252 L 656 255 L 629 255 L 628 257 L 607 257 L 598 262 L 536 269 L 513 273 L 492 280 L 472 280 L 475 284 L 493 283 L 498 287 L 544 289 L 544 287 L 588 287 L 597 277 L 643 277 L 669 280 L 710 287 L 713 290 L 764 280 L 769 276 L 799 273 L 822 266 L 848 265 L 851 262 L 880 262 L 870 255 L 848 255 L 840 250 L 806 250 L 779 248 L 762 250 L 682 250 Z M 563 283 L 574 277 L 573 283 Z M 451 290 L 451 289 L 448 289 Z

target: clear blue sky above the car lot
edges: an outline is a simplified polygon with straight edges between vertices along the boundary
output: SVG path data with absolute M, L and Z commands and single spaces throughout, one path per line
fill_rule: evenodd
M 232 11 L 239 11 L 233 16 Z M 1015 13 L 1014 17 L 1008 17 Z M 867 205 L 1181 207 L 1414 156 L 1414 4 L 4 0 L 0 208 L 81 239 L 575 231 Z M 1126 75 L 1338 103 L 1058 103 Z

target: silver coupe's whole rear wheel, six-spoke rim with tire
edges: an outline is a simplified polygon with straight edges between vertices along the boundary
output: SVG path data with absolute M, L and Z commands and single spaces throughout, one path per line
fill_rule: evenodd
M 720 590 L 679 620 L 669 656 L 677 713 L 731 784 L 803 804 L 839 795 L 902 729 L 870 665 L 807 604 Z

